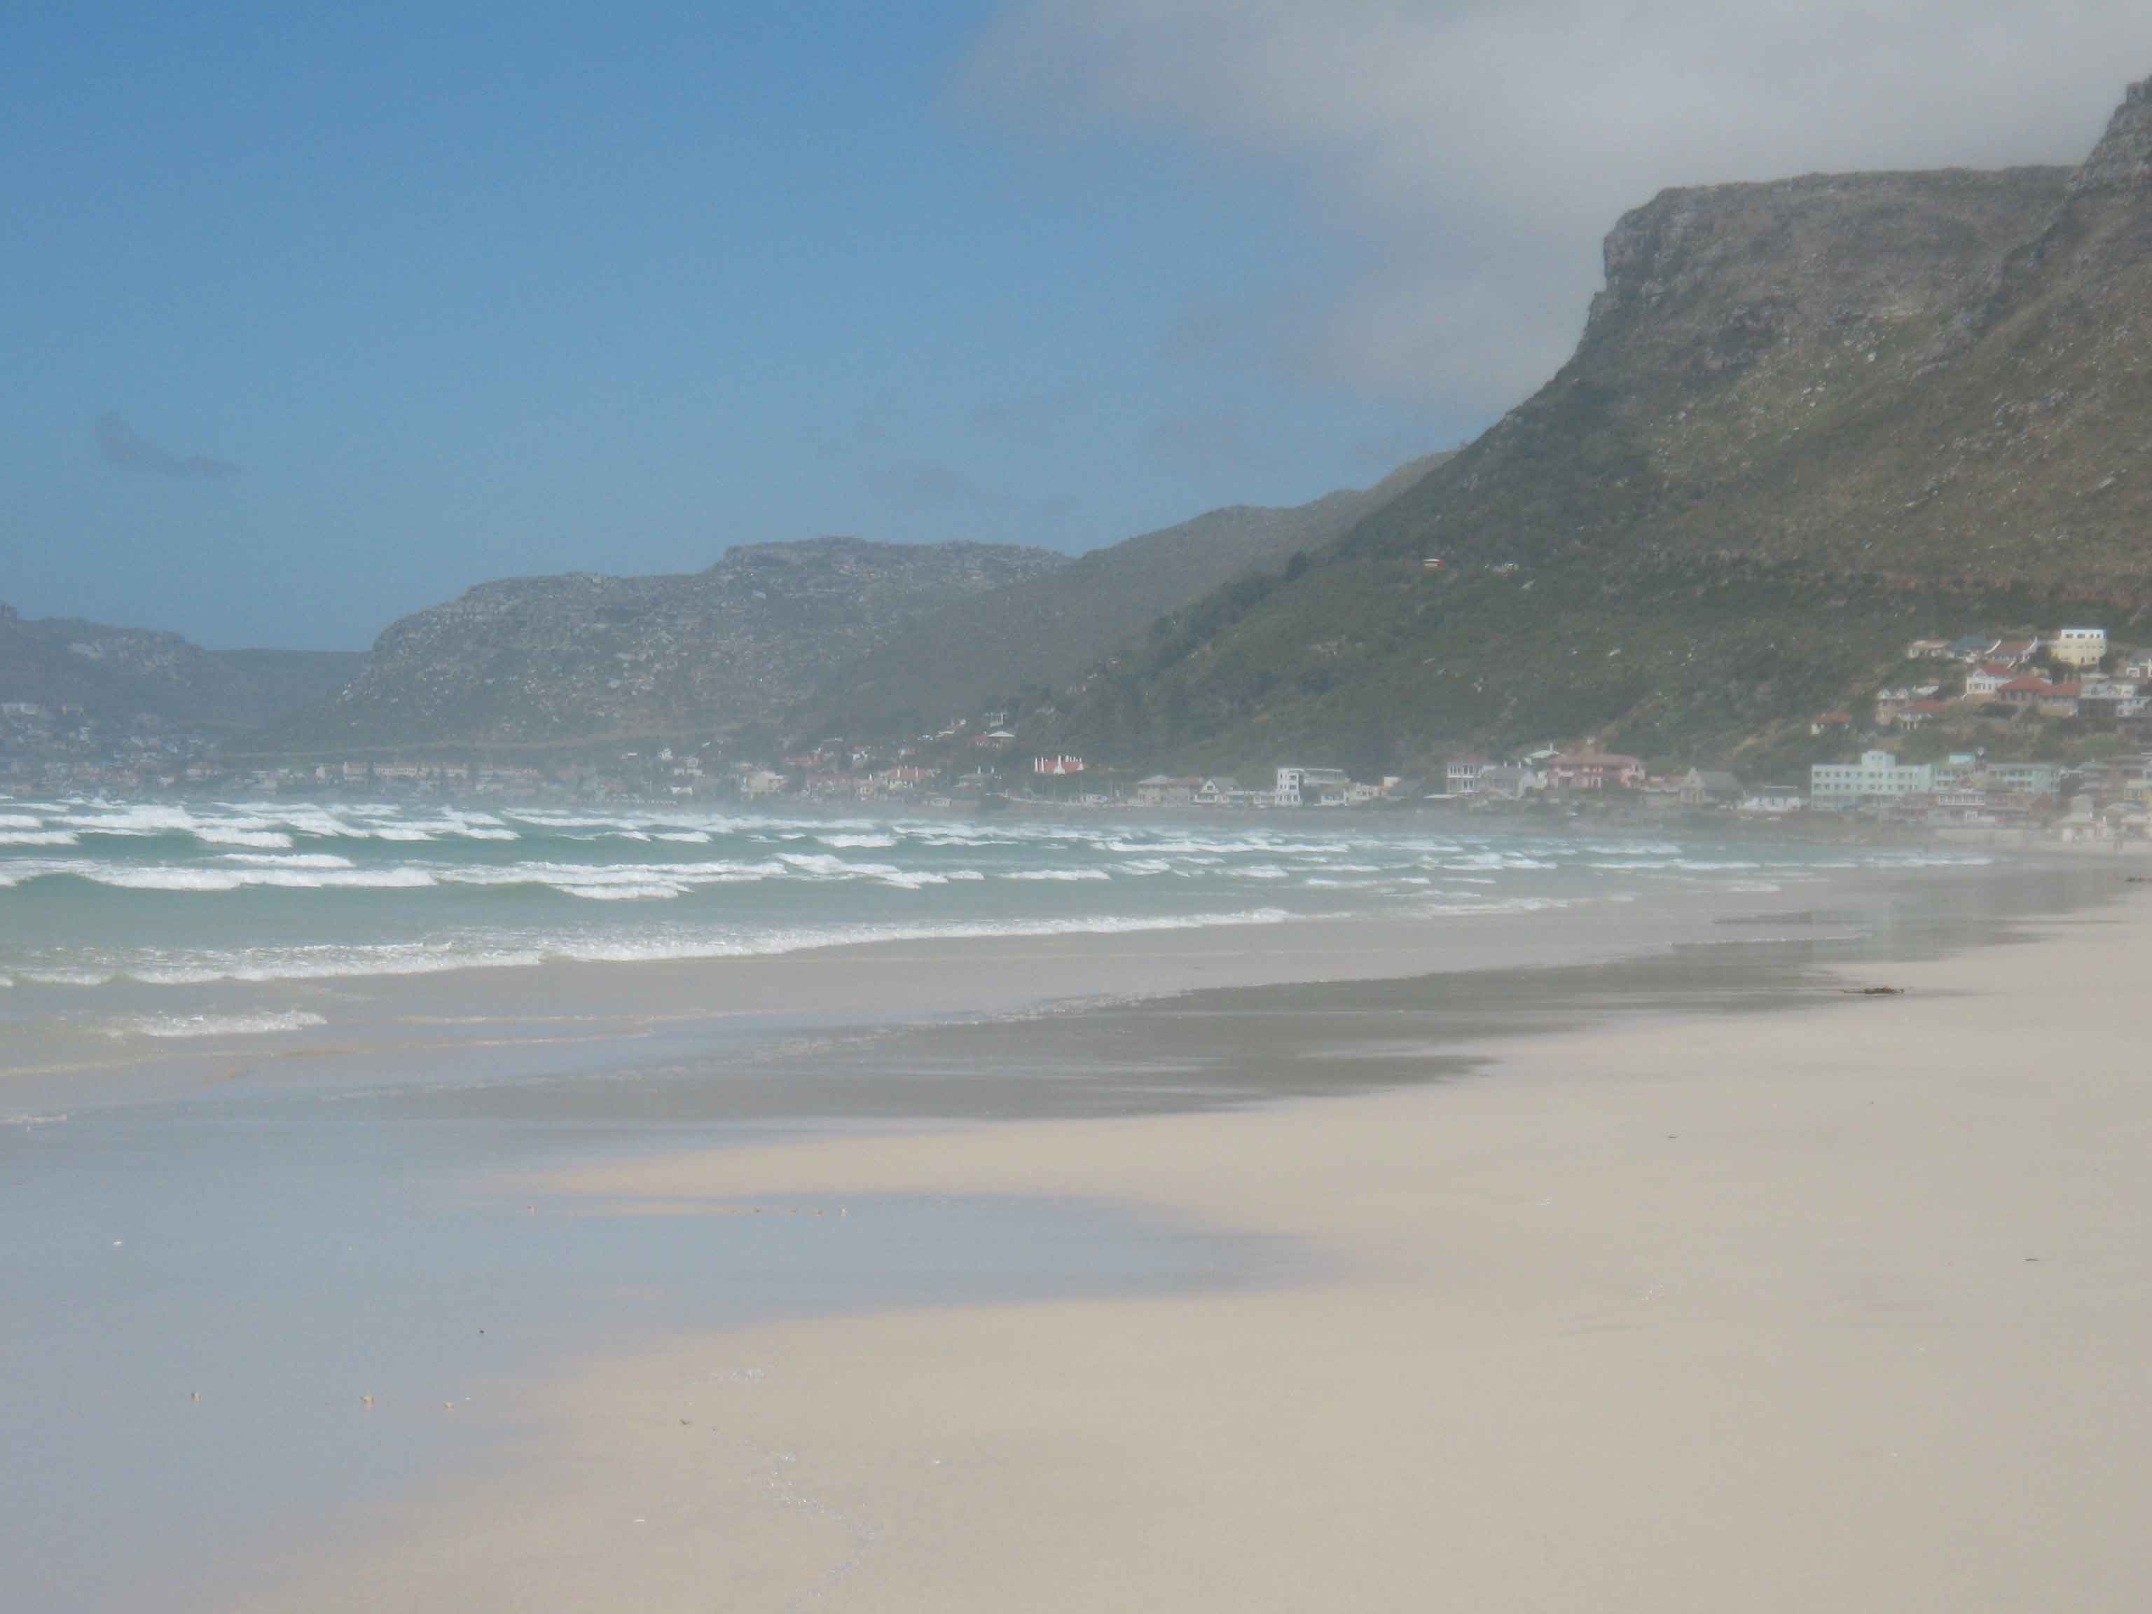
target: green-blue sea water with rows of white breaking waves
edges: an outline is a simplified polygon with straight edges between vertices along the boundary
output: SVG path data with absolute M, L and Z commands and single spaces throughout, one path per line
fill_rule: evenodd
M 1674 889 L 1775 893 L 1834 869 L 1980 861 L 1687 835 L 1466 835 L 1433 820 L 1328 813 L 1162 824 L 0 801 L 0 992 L 1356 915 L 1461 923 Z M 254 1029 L 308 1024 L 282 1011 Z M 185 1016 L 108 1027 L 168 1039 L 245 1029 Z

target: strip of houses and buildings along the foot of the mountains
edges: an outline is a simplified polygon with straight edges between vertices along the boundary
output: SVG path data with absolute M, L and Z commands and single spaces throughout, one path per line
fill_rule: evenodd
M 1932 831 L 2057 839 L 2148 833 L 2152 648 L 2105 628 L 1913 639 L 1905 674 L 1859 708 L 1808 725 L 1816 760 L 1747 777 L 1737 766 L 1655 766 L 1595 740 L 1511 753 L 1457 751 L 1420 777 L 1354 777 L 1278 762 L 1263 777 L 1145 773 L 1022 745 L 1007 710 L 955 719 L 904 742 L 826 738 L 742 753 L 732 740 L 536 762 L 439 755 L 258 760 L 224 736 L 80 710 L 0 704 L 4 794 L 349 794 L 504 801 L 779 801 L 796 807 L 1177 809 L 1177 811 L 1528 811 L 1855 816 Z

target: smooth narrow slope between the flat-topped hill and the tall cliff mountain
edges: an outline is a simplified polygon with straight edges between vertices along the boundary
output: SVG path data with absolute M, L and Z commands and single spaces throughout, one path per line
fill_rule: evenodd
M 1373 489 L 1293 508 L 1231 506 L 1177 527 L 1093 549 L 1070 566 L 951 600 L 915 635 L 844 667 L 813 697 L 816 727 L 902 734 L 1059 686 L 1164 611 L 1296 551 L 1332 544 L 1410 489 L 1442 454 L 1399 467 Z M 921 654 L 932 646 L 932 654 Z

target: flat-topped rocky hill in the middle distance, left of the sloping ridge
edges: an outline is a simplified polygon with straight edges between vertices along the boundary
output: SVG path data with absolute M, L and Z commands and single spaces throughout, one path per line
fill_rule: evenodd
M 742 544 L 680 577 L 523 577 L 407 615 L 278 749 L 689 736 L 773 723 L 953 598 L 1059 572 L 1007 544 Z

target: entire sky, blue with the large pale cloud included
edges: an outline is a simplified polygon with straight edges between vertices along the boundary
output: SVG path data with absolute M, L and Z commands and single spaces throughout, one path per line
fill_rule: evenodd
M 0 600 L 1089 549 L 1556 364 L 1661 185 L 2075 161 L 2143 0 L 0 6 Z

